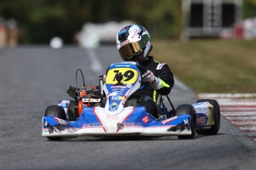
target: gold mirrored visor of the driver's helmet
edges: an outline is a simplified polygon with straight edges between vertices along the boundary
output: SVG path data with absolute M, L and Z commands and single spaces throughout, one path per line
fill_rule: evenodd
M 134 56 L 142 52 L 139 41 L 131 42 L 119 48 L 119 54 L 124 61 L 134 61 Z

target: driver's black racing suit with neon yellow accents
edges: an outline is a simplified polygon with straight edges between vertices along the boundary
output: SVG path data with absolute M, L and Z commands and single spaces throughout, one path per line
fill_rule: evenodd
M 137 103 L 141 106 L 145 106 L 147 112 L 151 113 L 155 118 L 159 117 L 157 106 L 158 95 L 168 95 L 171 92 L 171 88 L 174 86 L 174 75 L 169 69 L 167 64 L 160 64 L 154 61 L 152 56 L 148 56 L 142 63 L 140 63 L 146 70 L 150 70 L 154 73 L 154 76 L 160 79 L 160 89 L 153 89 L 151 86 L 145 86 L 144 89 L 137 91 L 131 98 L 137 98 Z M 144 72 L 141 72 L 143 75 Z

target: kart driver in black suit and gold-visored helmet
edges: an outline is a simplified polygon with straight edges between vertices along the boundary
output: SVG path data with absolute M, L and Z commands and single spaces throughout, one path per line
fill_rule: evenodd
M 147 30 L 140 25 L 128 25 L 116 35 L 116 47 L 124 61 L 139 62 L 146 72 L 142 72 L 142 81 L 149 86 L 135 92 L 131 98 L 137 98 L 140 106 L 145 106 L 146 111 L 159 118 L 156 101 L 158 94 L 168 95 L 174 86 L 174 76 L 167 64 L 154 61 L 149 53 L 153 49 L 151 38 Z

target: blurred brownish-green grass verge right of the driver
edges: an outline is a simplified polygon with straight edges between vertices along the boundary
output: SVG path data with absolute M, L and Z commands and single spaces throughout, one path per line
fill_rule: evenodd
M 151 55 L 201 92 L 256 92 L 256 40 L 155 40 Z

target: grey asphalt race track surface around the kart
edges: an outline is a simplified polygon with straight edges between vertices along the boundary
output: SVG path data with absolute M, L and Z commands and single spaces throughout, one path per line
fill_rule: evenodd
M 47 106 L 76 85 L 80 68 L 88 84 L 107 66 L 121 61 L 116 48 L 95 50 L 47 46 L 0 50 L 0 169 L 256 169 L 255 141 L 226 118 L 218 135 L 177 137 L 41 137 Z M 82 81 L 78 82 L 79 84 Z M 193 92 L 177 81 L 174 105 L 195 103 Z

